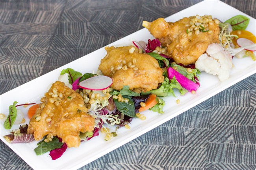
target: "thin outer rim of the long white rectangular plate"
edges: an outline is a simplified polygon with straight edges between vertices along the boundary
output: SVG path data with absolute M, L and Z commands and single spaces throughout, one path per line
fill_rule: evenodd
M 184 12 L 185 10 L 187 10 L 187 9 L 189 9 L 189 8 L 195 7 L 195 6 L 200 5 L 200 4 L 204 4 L 204 3 L 209 2 L 209 1 L 213 1 L 213 0 L 203 0 L 203 1 L 201 1 L 201 2 L 199 2 L 199 3 L 197 3 L 197 4 L 195 4 L 195 5 L 192 5 L 192 6 L 188 7 L 188 8 L 186 8 L 186 9 L 183 9 L 182 11 L 179 11 L 178 13 L 174 13 L 173 15 L 177 15 L 177 14 L 179 14 L 179 13 Z M 234 7 L 232 7 L 232 6 L 228 5 L 228 4 L 225 4 L 224 2 L 222 2 L 222 1 L 220 1 L 220 0 L 214 0 L 214 1 L 215 1 L 215 3 L 220 3 L 221 5 L 226 5 L 226 6 L 228 6 L 229 8 L 233 8 L 233 9 L 239 11 L 238 9 L 236 9 L 236 8 L 234 8 Z M 239 11 L 239 13 L 243 13 L 243 12 Z M 243 13 L 243 14 L 246 15 L 246 16 L 249 16 L 249 15 L 247 15 L 247 14 L 245 14 L 245 13 Z M 173 15 L 171 15 L 171 16 L 173 16 Z M 170 18 L 171 16 L 168 16 L 167 18 Z M 250 16 L 250 18 L 252 18 L 252 17 Z M 145 30 L 145 28 L 143 28 L 143 29 Z M 140 30 L 138 30 L 138 31 L 135 31 L 135 32 L 132 33 L 132 34 L 135 34 L 135 33 L 139 32 L 139 31 L 142 31 L 143 29 L 140 29 Z M 130 35 L 132 35 L 132 34 L 130 34 Z M 125 36 L 125 37 L 123 37 L 123 38 L 121 38 L 121 39 L 119 39 L 119 40 L 117 40 L 117 41 L 115 41 L 115 42 L 112 42 L 111 44 L 108 44 L 107 46 L 114 45 L 114 44 L 116 44 L 116 42 L 119 42 L 119 41 L 122 40 L 122 39 L 127 39 L 130 35 L 127 35 L 127 36 Z M 104 46 L 104 47 L 106 47 L 106 46 Z M 31 82 L 35 82 L 35 81 L 37 81 L 37 80 L 39 80 L 39 79 L 43 79 L 44 77 L 47 77 L 47 75 L 50 75 L 50 73 L 53 73 L 54 71 L 56 72 L 56 70 L 63 69 L 63 68 L 67 68 L 67 65 L 72 64 L 72 63 L 74 63 L 74 62 L 77 61 L 77 60 L 81 60 L 81 58 L 85 58 L 85 57 L 88 56 L 88 55 L 92 55 L 93 53 L 97 53 L 97 51 L 104 49 L 104 47 L 102 47 L 102 48 L 100 48 L 100 49 L 97 49 L 96 51 L 93 51 L 92 53 L 89 53 L 89 54 L 87 54 L 87 55 L 84 55 L 83 57 L 80 57 L 80 58 L 78 58 L 78 59 L 76 59 L 76 60 L 74 60 L 74 61 L 72 61 L 72 62 L 70 62 L 70 63 L 68 63 L 68 64 L 65 64 L 64 66 L 61 66 L 61 67 L 59 67 L 59 68 L 57 68 L 57 69 L 54 69 L 54 70 L 50 71 L 49 73 L 46 73 L 45 75 L 41 75 L 41 76 L 39 76 L 39 77 L 37 77 L 37 78 L 35 78 L 35 79 L 29 81 L 29 82 L 26 82 L 25 84 L 22 84 L 21 86 L 18 86 L 18 87 L 14 88 L 14 89 L 12 89 L 12 90 L 10 90 L 10 91 L 7 91 L 7 92 L 1 94 L 1 95 L 0 95 L 0 100 L 1 100 L 1 97 L 2 97 L 2 96 L 5 96 L 5 95 L 7 95 L 8 93 L 10 93 L 10 92 L 12 92 L 12 91 L 16 91 L 17 89 L 20 89 L 20 88 L 22 88 L 22 87 L 26 87 L 26 85 L 27 85 L 27 84 L 30 84 Z M 243 77 L 239 77 L 239 79 L 236 79 L 235 81 L 233 81 L 233 82 L 234 82 L 233 84 L 230 84 L 230 83 L 226 83 L 226 84 L 225 84 L 225 83 L 224 83 L 224 86 L 222 86 L 222 88 L 219 88 L 219 89 L 217 90 L 217 93 L 219 93 L 219 92 L 225 90 L 226 88 L 228 88 L 228 87 L 230 87 L 230 86 L 236 84 L 237 82 L 239 82 L 239 81 L 241 81 L 241 80 L 243 80 L 243 79 L 245 79 L 245 78 L 247 78 L 247 77 L 249 77 L 250 75 L 255 74 L 255 73 L 256 73 L 256 70 L 255 70 L 255 71 L 251 71 L 251 72 L 245 74 Z M 206 99 L 209 99 L 209 98 L 212 97 L 213 95 L 216 95 L 217 93 L 211 93 L 210 95 L 208 95 L 208 96 L 202 98 L 202 100 L 197 101 L 197 102 L 195 102 L 194 104 L 197 105 L 197 104 L 199 104 L 199 103 L 205 101 Z M 210 97 L 209 97 L 209 96 L 210 96 Z M 189 110 L 190 108 L 192 108 L 193 106 L 195 106 L 194 104 L 191 104 L 191 105 L 189 105 L 188 107 L 185 107 L 183 110 L 181 110 L 180 112 L 178 112 L 178 113 L 176 113 L 175 115 L 173 115 L 173 117 L 176 117 L 177 115 L 179 115 L 179 114 L 185 112 L 186 110 Z M 123 143 L 115 144 L 113 147 L 111 147 L 111 148 L 105 150 L 104 154 L 97 154 L 97 155 L 94 155 L 93 157 L 91 157 L 91 159 L 89 159 L 89 161 L 88 161 L 88 159 L 87 159 L 87 161 L 84 161 L 83 159 L 81 159 L 81 160 L 79 161 L 80 163 L 76 164 L 75 166 L 72 166 L 72 167 L 69 167 L 69 166 L 68 166 L 68 167 L 69 167 L 69 169 L 70 169 L 70 168 L 71 168 L 71 169 L 76 169 L 76 168 L 80 168 L 80 167 L 82 167 L 82 166 L 85 166 L 85 165 L 87 165 L 88 163 L 90 163 L 90 162 L 92 162 L 92 161 L 98 159 L 99 157 L 101 157 L 101 156 L 103 156 L 103 155 L 105 155 L 105 154 L 107 154 L 107 153 L 109 153 L 109 152 L 111 152 L 111 151 L 113 151 L 113 150 L 119 148 L 119 147 L 122 146 L 123 144 L 126 144 L 126 143 L 128 143 L 129 141 L 132 141 L 133 139 L 135 139 L 135 138 L 139 137 L 140 135 L 142 135 L 142 134 L 148 132 L 149 130 L 152 130 L 153 128 L 159 126 L 159 125 L 162 124 L 163 122 L 168 121 L 167 119 L 170 120 L 169 117 L 166 117 L 165 119 L 163 119 L 163 121 L 161 121 L 161 122 L 156 122 L 156 123 L 154 124 L 154 126 L 148 126 L 147 128 L 144 128 L 143 132 L 141 132 L 141 133 L 136 133 L 135 135 L 132 135 L 132 136 L 130 136 L 130 137 L 127 137 L 126 140 L 125 140 Z M 172 119 L 172 118 L 171 118 L 171 119 Z M 0 133 L 0 134 L 1 134 L 1 133 Z M 11 146 L 12 144 L 7 143 L 6 140 L 4 140 L 4 138 L 2 137 L 2 135 L 0 135 L 0 139 L 1 139 L 4 143 L 6 143 L 7 146 L 8 146 L 9 148 L 11 148 L 17 155 L 19 155 L 28 165 L 30 165 L 30 166 L 31 166 L 32 168 L 34 168 L 34 169 L 40 169 L 39 167 L 37 167 L 36 165 L 34 165 L 33 163 L 31 163 L 31 162 L 30 162 L 26 157 L 24 157 L 20 152 L 18 152 L 18 151 L 16 152 L 16 151 L 15 151 L 16 149 L 15 149 L 13 146 Z M 102 152 L 101 152 L 101 153 L 102 153 Z M 36 155 L 35 155 L 35 156 L 36 156 Z M 86 162 L 86 163 L 85 163 L 85 162 Z M 84 163 L 85 163 L 85 164 L 84 164 Z M 65 166 L 65 165 L 64 165 L 64 166 Z M 58 167 L 56 167 L 56 168 L 67 168 L 67 166 L 65 166 L 65 167 L 63 167 L 63 166 L 58 166 Z

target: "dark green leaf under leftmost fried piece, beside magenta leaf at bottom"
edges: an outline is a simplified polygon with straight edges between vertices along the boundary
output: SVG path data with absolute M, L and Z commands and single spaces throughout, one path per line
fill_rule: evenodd
M 37 145 L 38 146 L 34 149 L 35 154 L 42 155 L 56 148 L 61 148 L 63 143 L 59 142 L 59 139 L 57 137 L 53 137 L 52 141 L 49 141 L 49 142 L 41 141 L 37 143 Z

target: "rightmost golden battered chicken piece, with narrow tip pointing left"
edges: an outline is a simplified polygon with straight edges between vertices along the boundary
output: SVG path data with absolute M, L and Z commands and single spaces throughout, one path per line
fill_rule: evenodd
M 208 45 L 219 42 L 218 20 L 211 16 L 190 16 L 176 22 L 158 18 L 153 22 L 143 21 L 143 26 L 167 47 L 167 55 L 176 63 L 195 63 Z

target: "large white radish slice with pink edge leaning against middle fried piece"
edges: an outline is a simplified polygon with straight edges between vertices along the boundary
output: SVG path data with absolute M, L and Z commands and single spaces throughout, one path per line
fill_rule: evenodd
M 87 90 L 105 90 L 113 83 L 113 79 L 104 75 L 98 75 L 79 83 L 79 87 Z

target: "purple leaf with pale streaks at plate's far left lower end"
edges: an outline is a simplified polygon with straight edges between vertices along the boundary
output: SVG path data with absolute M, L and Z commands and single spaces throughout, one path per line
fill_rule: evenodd
M 30 143 L 34 140 L 34 135 L 26 133 L 11 133 L 9 135 L 5 135 L 4 138 L 9 143 Z

